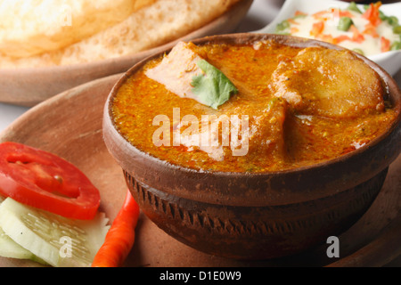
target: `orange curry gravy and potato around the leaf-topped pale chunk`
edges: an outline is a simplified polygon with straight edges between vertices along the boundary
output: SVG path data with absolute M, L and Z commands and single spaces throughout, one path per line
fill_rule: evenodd
M 239 93 L 218 110 L 169 92 L 146 77 L 148 62 L 127 79 L 112 103 L 112 116 L 127 141 L 172 164 L 206 171 L 265 172 L 302 167 L 354 151 L 372 141 L 397 117 L 381 78 L 352 53 L 258 42 L 194 46 L 225 73 Z M 156 146 L 155 116 L 190 114 L 249 117 L 249 150 L 223 159 L 197 147 Z M 183 129 L 184 130 L 184 129 Z M 170 133 L 173 134 L 173 133 Z

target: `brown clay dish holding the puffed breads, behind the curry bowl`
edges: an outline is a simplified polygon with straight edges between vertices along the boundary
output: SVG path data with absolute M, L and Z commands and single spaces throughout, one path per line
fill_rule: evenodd
M 174 42 L 141 53 L 62 67 L 0 69 L 0 102 L 34 106 L 38 102 L 43 102 L 74 86 L 126 71 L 135 62 L 142 60 L 151 53 L 175 45 L 178 40 L 187 41 L 197 37 L 233 32 L 247 14 L 252 2 L 253 0 L 241 0 L 204 27 L 194 30 Z

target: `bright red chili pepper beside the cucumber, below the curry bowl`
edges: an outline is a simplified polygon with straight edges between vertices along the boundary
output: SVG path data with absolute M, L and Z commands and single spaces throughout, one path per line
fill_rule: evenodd
M 111 224 L 102 247 L 94 256 L 92 267 L 119 267 L 123 265 L 134 246 L 135 227 L 139 213 L 139 206 L 128 190 L 119 214 Z

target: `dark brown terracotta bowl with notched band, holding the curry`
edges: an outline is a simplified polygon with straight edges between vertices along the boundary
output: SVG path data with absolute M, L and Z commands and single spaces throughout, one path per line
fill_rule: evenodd
M 223 35 L 193 42 L 261 39 L 341 49 L 315 40 L 267 34 Z M 380 74 L 391 102 L 401 110 L 401 92 L 394 80 L 377 64 L 359 57 Z M 103 139 L 143 213 L 192 248 L 217 256 L 266 259 L 320 245 L 329 236 L 345 232 L 364 214 L 381 190 L 389 164 L 401 151 L 398 112 L 396 121 L 372 142 L 311 167 L 252 174 L 211 173 L 169 164 L 127 142 L 110 116 L 119 87 L 149 59 L 129 69 L 111 90 L 103 114 Z

